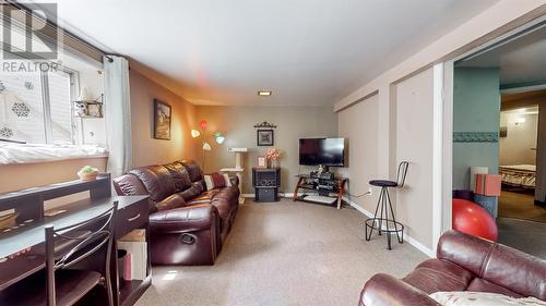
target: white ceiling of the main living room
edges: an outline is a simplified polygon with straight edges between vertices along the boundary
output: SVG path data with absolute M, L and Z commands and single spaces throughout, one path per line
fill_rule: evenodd
M 193 103 L 322 106 L 497 0 L 58 2 L 61 25 Z

